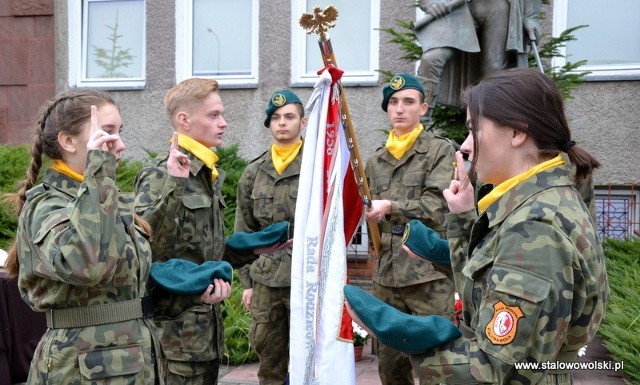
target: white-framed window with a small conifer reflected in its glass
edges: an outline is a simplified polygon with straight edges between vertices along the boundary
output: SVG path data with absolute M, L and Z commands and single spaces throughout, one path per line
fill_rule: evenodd
M 69 1 L 69 85 L 145 85 L 144 0 Z

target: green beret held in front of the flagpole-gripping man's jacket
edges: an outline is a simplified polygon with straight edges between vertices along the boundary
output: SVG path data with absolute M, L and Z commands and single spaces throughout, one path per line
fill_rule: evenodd
M 449 241 L 440 238 L 432 228 L 417 219 L 405 226 L 402 243 L 427 261 L 451 266 Z

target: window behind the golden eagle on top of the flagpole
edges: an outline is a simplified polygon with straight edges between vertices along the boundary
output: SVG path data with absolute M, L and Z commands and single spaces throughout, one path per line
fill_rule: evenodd
M 318 35 L 307 34 L 299 24 L 300 16 L 316 5 L 321 9 L 333 5 L 338 10 L 336 26 L 328 33 L 337 65 L 345 71 L 342 84 L 377 85 L 380 0 L 292 0 L 292 83 L 313 85 L 324 66 Z

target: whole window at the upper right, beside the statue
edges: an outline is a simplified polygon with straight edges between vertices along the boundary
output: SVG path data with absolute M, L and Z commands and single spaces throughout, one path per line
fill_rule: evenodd
M 556 58 L 554 66 L 566 60 L 587 60 L 580 71 L 591 71 L 586 80 L 640 79 L 640 1 L 556 0 L 553 2 L 553 35 L 567 28 L 588 25 L 574 32 L 575 41 Z

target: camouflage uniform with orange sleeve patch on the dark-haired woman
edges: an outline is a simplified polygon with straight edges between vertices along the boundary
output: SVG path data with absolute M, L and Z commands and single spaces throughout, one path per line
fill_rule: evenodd
M 575 361 L 604 318 L 609 296 L 604 253 L 569 174 L 566 166 L 540 172 L 479 218 L 475 212 L 447 215 L 463 336 L 412 356 L 421 378 L 452 384 L 571 383 L 568 371 L 514 367 Z M 509 322 L 502 322 L 505 318 Z

